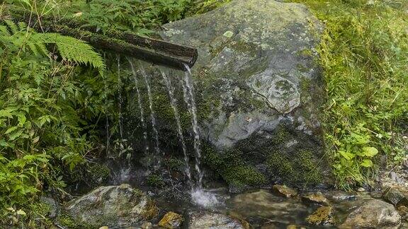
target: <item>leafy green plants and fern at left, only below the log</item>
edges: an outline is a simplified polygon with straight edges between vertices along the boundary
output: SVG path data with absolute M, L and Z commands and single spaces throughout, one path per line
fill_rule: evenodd
M 49 52 L 49 44 L 58 52 Z M 92 151 L 76 111 L 87 93 L 74 79 L 76 64 L 104 69 L 84 42 L 10 20 L 0 25 L 0 223 L 33 223 L 40 191 L 64 187 L 55 166 L 72 170 Z

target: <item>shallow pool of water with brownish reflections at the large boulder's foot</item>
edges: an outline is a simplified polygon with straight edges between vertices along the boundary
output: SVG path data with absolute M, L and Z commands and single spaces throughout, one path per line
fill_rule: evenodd
M 335 211 L 337 224 L 346 219 L 348 213 L 363 202 L 378 197 L 377 193 L 346 193 L 328 191 L 323 193 Z M 162 212 L 175 211 L 186 216 L 192 211 L 213 211 L 242 218 L 254 228 L 286 228 L 288 225 L 302 225 L 306 228 L 336 228 L 336 226 L 315 226 L 305 221 L 316 211 L 318 205 L 304 204 L 300 197 L 285 198 L 268 189 L 257 189 L 243 194 L 229 194 L 227 189 L 206 189 L 193 193 L 194 203 L 186 196 L 168 198 L 154 195 L 153 198 Z

